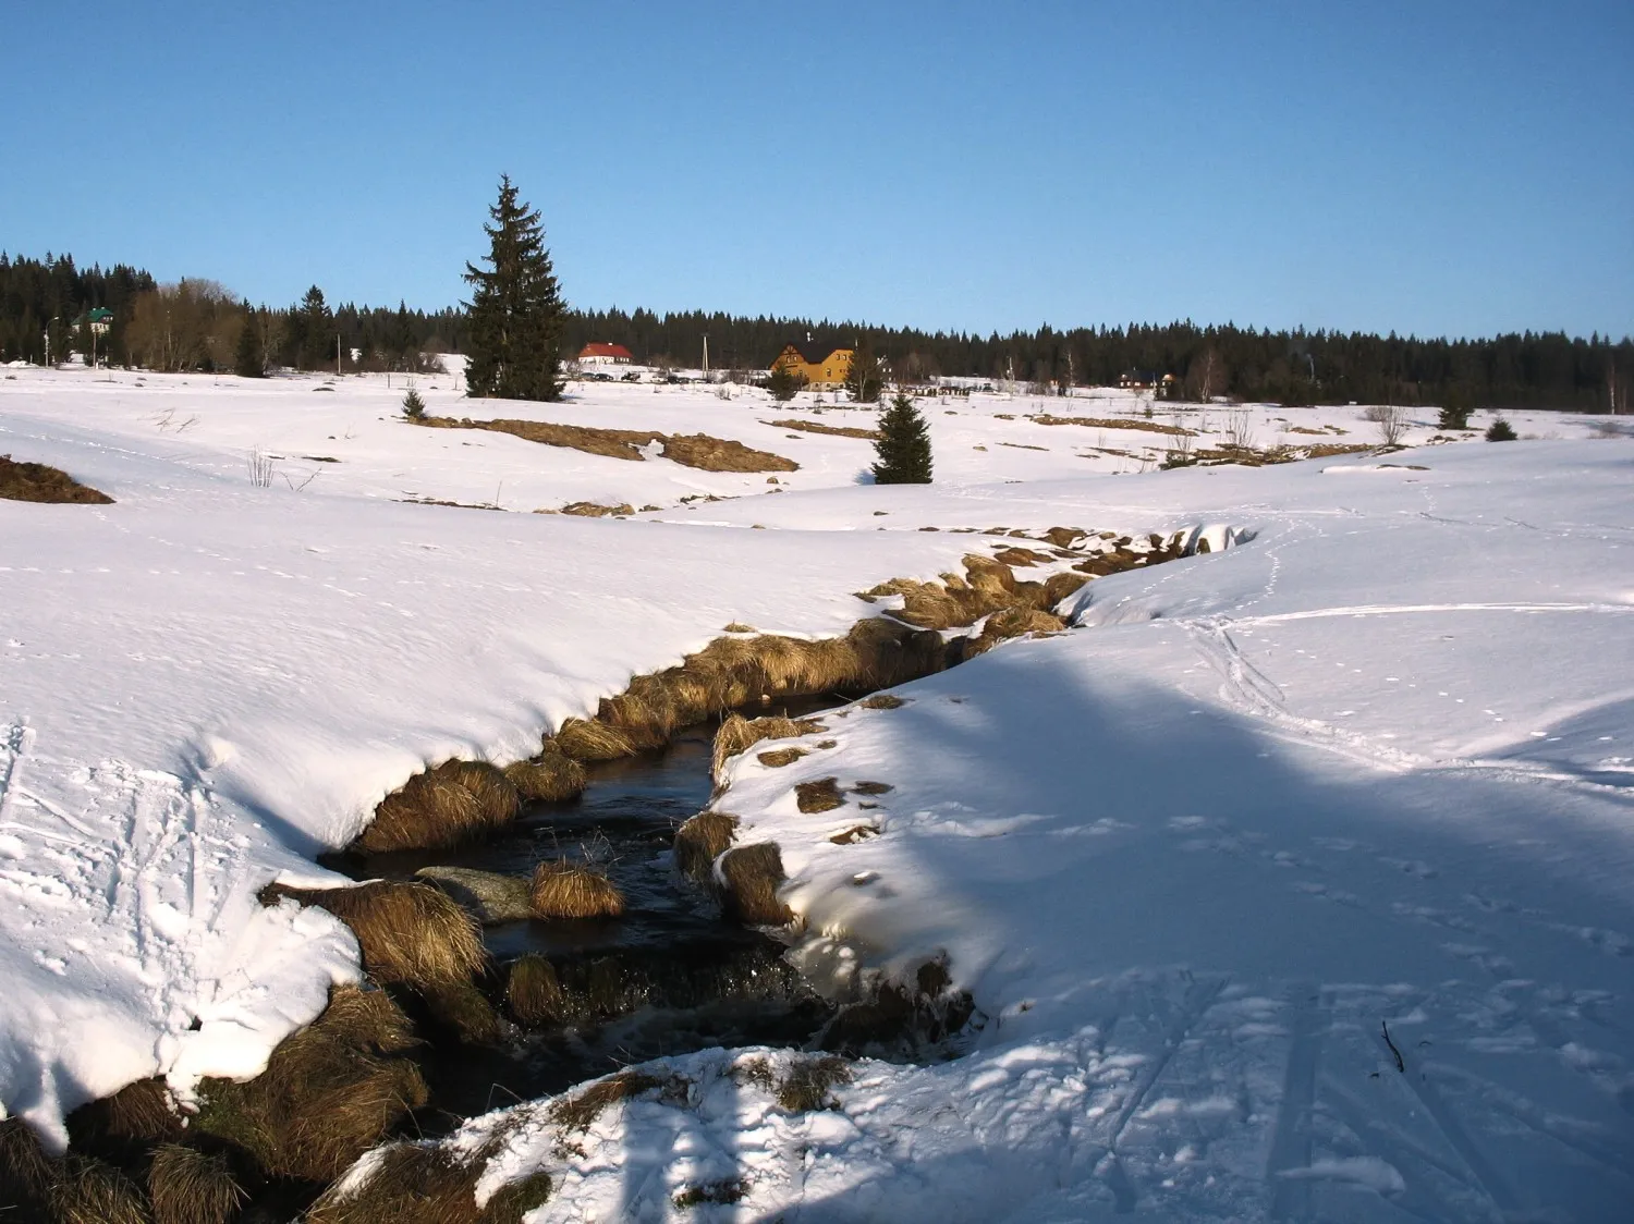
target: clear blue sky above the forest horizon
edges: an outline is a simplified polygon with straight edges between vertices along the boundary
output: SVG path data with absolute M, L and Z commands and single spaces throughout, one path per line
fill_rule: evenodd
M 5 5 L 0 247 L 458 301 L 1634 333 L 1634 3 Z

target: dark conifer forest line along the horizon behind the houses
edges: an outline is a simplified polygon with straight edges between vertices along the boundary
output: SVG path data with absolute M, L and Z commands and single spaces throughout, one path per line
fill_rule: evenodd
M 234 369 L 242 333 L 255 327 L 263 368 L 412 369 L 422 353 L 469 351 L 471 317 L 441 310 L 343 304 L 317 286 L 301 302 L 250 307 L 214 281 L 158 284 L 144 270 L 80 270 L 70 257 L 0 255 L 0 361 L 44 361 L 87 351 L 74 322 L 92 307 L 114 312 L 98 351 L 114 364 L 155 369 Z M 1271 332 L 1252 327 L 1082 327 L 1008 335 L 923 332 L 799 317 L 725 312 L 565 309 L 557 346 L 624 345 L 644 364 L 698 366 L 704 337 L 716 369 L 766 369 L 791 340 L 866 343 L 897 377 L 1015 381 L 1036 389 L 1109 386 L 1127 371 L 1173 374 L 1190 399 L 1232 395 L 1278 404 L 1467 404 L 1493 409 L 1603 410 L 1629 404 L 1634 340 L 1525 332 L 1479 340 L 1381 337 L 1366 332 Z M 356 353 L 356 356 L 355 356 Z

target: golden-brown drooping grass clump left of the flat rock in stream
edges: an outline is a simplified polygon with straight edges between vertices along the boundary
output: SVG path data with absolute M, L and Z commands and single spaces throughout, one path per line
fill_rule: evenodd
M 482 927 L 453 897 L 430 884 L 377 879 L 340 889 L 271 884 L 261 900 L 292 897 L 319 905 L 358 936 L 363 967 L 376 981 L 426 987 L 466 982 L 482 967 Z

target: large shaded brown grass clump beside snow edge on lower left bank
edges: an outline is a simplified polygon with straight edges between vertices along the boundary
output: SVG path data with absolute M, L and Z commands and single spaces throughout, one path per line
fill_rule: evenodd
M 245 1149 L 273 1177 L 333 1182 L 426 1101 L 407 1018 L 384 990 L 337 987 L 245 1083 L 204 1080 L 194 1128 Z

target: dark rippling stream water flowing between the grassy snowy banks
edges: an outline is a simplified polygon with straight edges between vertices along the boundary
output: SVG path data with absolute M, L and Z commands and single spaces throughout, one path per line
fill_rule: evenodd
M 833 704 L 828 696 L 755 713 L 792 717 Z M 431 1088 L 430 1110 L 415 1119 L 422 1132 L 652 1057 L 712 1046 L 804 1046 L 833 1016 L 833 1005 L 783 959 L 781 943 L 724 918 L 673 869 L 675 830 L 709 802 L 717 726 L 688 727 L 667 748 L 592 766 L 578 799 L 528 804 L 487 842 L 335 863 L 356 878 L 410 879 L 433 864 L 523 876 L 565 855 L 593 861 L 624 894 L 616 918 L 484 928 L 495 966 L 485 984 L 490 998 L 502 997 L 511 961 L 538 953 L 592 1007 L 572 1023 L 520 1030 L 495 1044 L 441 1039 L 433 1026 L 422 1057 Z

